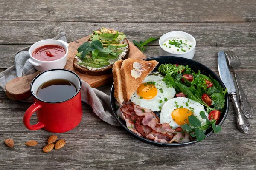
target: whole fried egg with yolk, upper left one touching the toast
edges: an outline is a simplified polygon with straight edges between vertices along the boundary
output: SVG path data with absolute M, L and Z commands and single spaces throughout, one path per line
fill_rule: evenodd
M 151 111 L 160 111 L 163 104 L 174 96 L 175 89 L 167 87 L 162 76 L 150 75 L 131 96 L 131 102 Z

